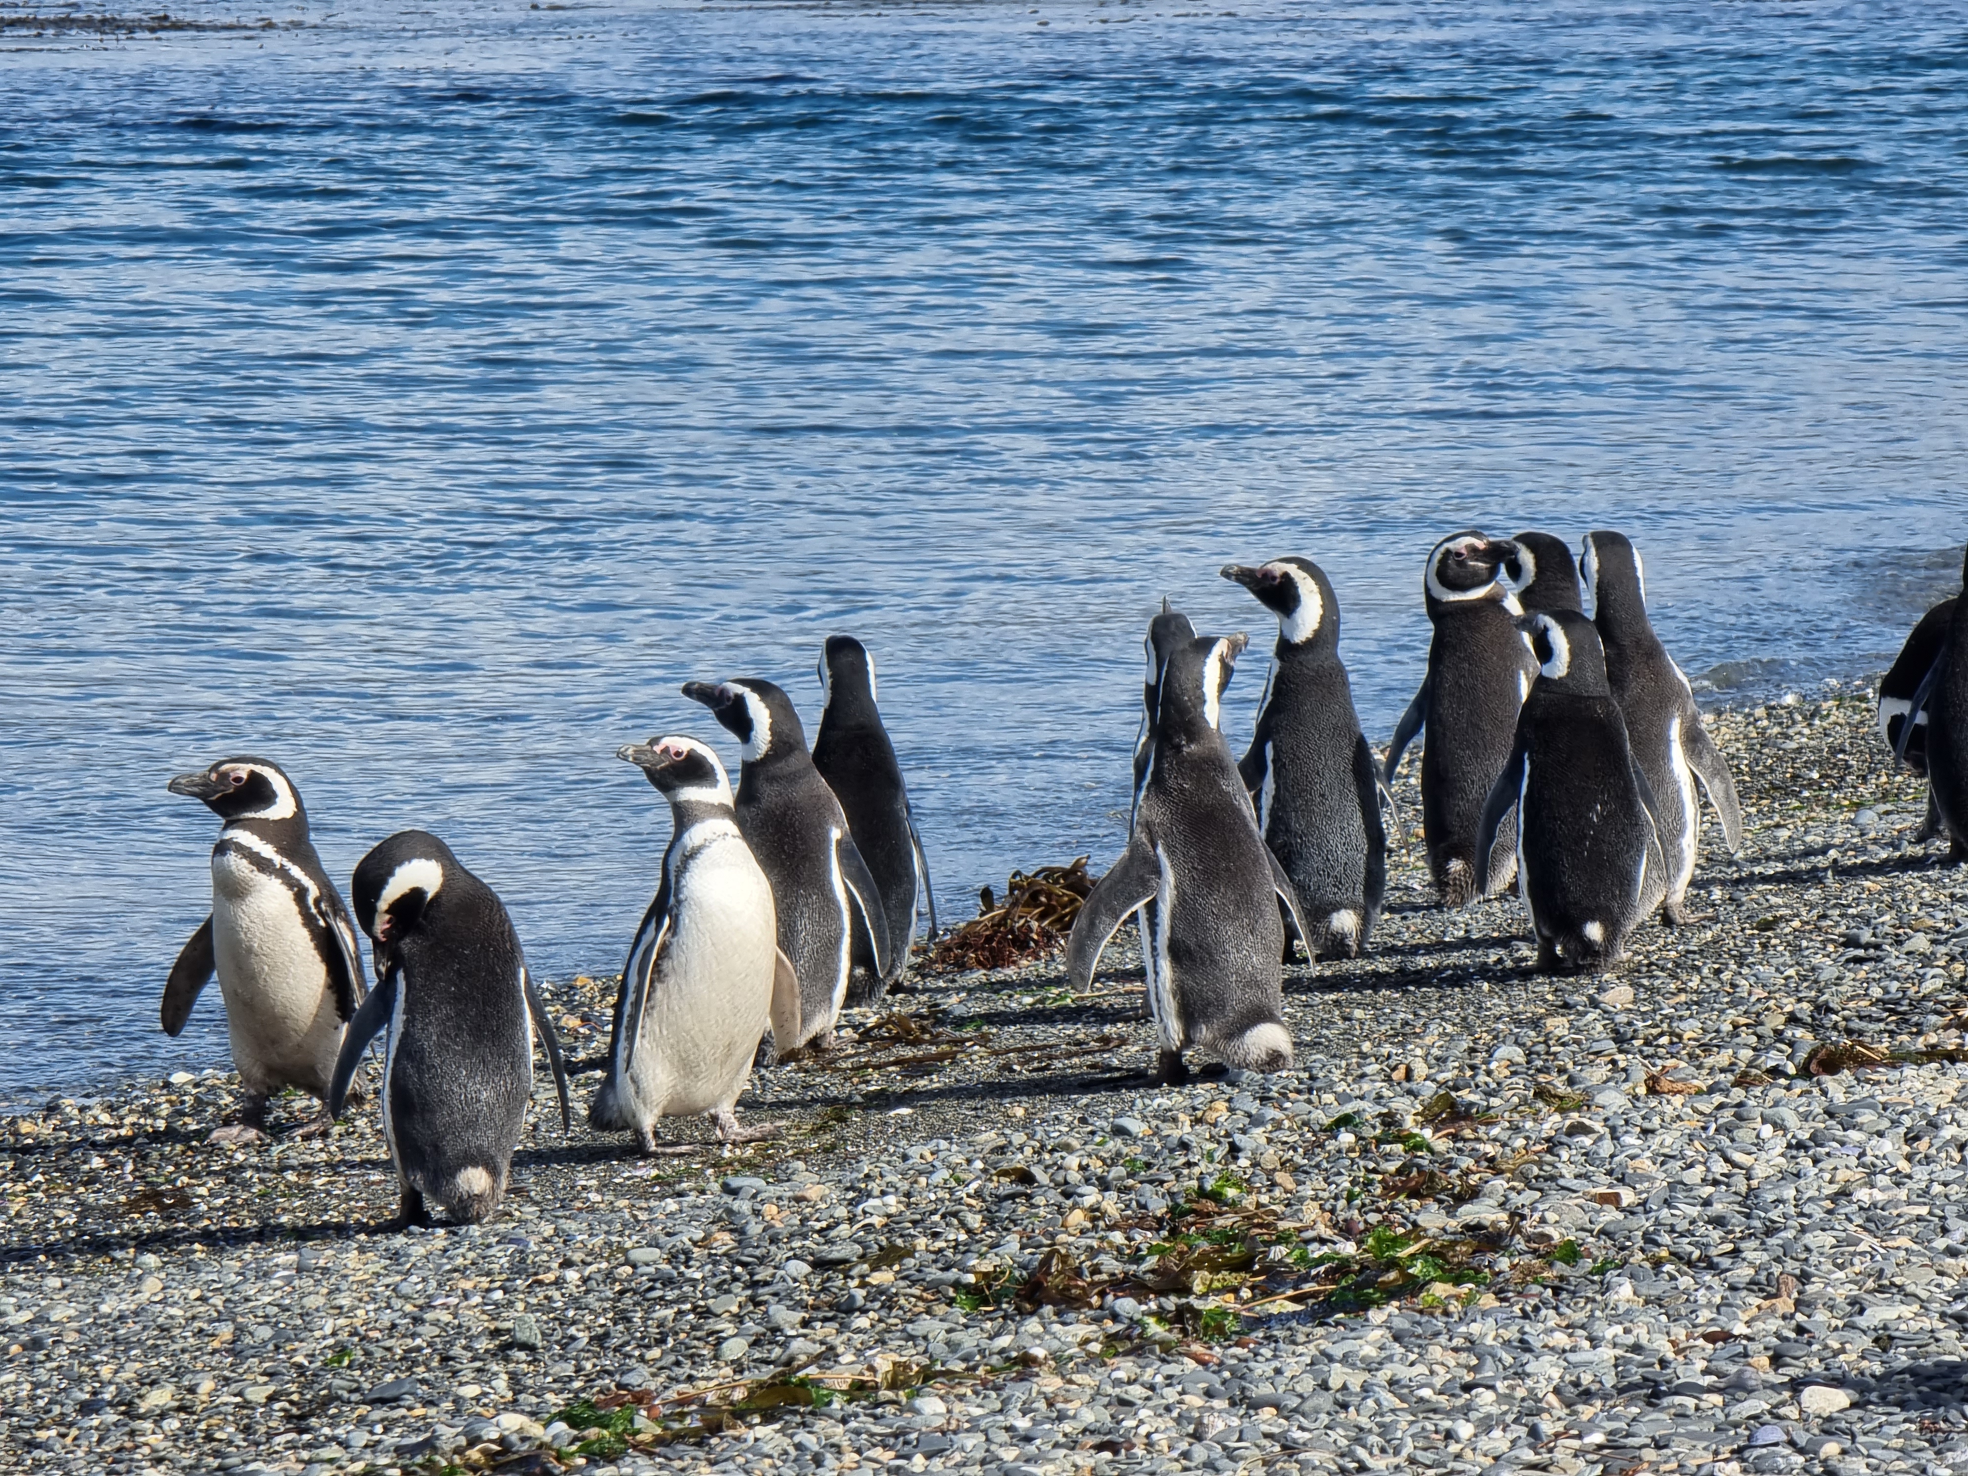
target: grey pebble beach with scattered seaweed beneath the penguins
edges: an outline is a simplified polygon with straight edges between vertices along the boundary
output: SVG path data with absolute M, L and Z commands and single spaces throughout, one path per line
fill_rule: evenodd
M 1872 724 L 1716 714 L 1744 852 L 1606 978 L 1411 842 L 1275 1076 L 1147 1084 L 1126 953 L 921 978 L 760 1073 L 779 1141 L 563 1141 L 543 1082 L 506 1212 L 401 1236 L 372 1110 L 228 1149 L 218 1073 L 51 1100 L 0 1122 L 0 1464 L 1968 1468 L 1968 874 Z M 612 984 L 549 998 L 598 1055 Z

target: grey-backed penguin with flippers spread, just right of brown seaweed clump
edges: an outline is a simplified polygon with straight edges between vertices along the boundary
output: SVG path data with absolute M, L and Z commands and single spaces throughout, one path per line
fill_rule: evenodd
M 1313 937 L 1277 858 L 1258 834 L 1230 744 L 1218 730 L 1224 667 L 1244 636 L 1189 640 L 1159 673 L 1153 756 L 1128 848 L 1094 886 L 1067 941 L 1067 978 L 1084 990 L 1100 951 L 1136 911 L 1147 1006 L 1161 1039 L 1157 1076 L 1183 1080 L 1183 1051 L 1228 1067 L 1291 1065 L 1277 901 Z

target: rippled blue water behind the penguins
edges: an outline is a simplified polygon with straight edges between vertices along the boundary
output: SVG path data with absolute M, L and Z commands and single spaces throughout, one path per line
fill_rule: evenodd
M 1155 600 L 1267 628 L 1224 561 L 1326 567 L 1378 740 L 1460 525 L 1628 529 L 1765 689 L 1958 569 L 1962 6 L 272 18 L 0 33 L 10 1090 L 224 1061 L 155 1025 L 224 754 L 563 976 L 667 836 L 614 748 L 817 718 L 832 630 L 968 915 L 1116 852 Z

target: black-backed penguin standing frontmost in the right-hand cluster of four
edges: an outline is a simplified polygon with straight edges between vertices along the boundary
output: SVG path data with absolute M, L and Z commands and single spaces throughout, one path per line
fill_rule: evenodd
M 1667 895 L 1647 777 L 1606 681 L 1606 653 L 1576 610 L 1523 618 L 1539 677 L 1478 827 L 1478 846 L 1517 813 L 1517 893 L 1545 972 L 1598 974 Z M 1507 884 L 1492 872 L 1490 886 Z

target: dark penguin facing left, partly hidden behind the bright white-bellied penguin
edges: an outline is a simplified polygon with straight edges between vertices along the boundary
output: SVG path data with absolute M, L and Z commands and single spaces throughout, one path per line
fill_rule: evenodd
M 793 699 L 756 677 L 691 681 L 683 695 L 710 708 L 744 744 L 738 769 L 738 832 L 752 846 L 779 919 L 779 947 L 799 974 L 799 1035 L 773 1039 L 783 1061 L 793 1051 L 832 1045 L 848 994 L 856 927 L 886 976 L 888 913 L 848 817 L 813 768 Z

